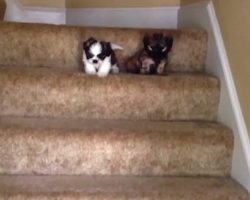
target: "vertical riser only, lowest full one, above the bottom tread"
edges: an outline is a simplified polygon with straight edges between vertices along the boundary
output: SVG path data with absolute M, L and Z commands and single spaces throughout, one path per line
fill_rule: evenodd
M 229 174 L 233 139 L 228 133 L 183 135 L 5 128 L 0 130 L 0 173 Z

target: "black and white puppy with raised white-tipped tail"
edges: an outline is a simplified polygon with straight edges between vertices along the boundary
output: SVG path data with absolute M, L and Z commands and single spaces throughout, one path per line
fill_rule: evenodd
M 122 49 L 110 42 L 97 41 L 91 37 L 83 43 L 83 57 L 85 73 L 105 77 L 109 73 L 119 73 L 114 49 Z

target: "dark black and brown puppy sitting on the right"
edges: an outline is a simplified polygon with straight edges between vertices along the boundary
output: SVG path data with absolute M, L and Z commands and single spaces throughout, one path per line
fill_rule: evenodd
M 126 65 L 127 72 L 140 74 L 163 74 L 168 53 L 173 46 L 173 38 L 163 34 L 145 35 L 144 48 L 130 57 Z

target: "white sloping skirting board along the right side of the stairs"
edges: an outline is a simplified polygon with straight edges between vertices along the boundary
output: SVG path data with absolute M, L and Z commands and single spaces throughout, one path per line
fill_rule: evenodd
M 178 27 L 203 28 L 209 34 L 206 71 L 220 78 L 221 96 L 218 121 L 234 132 L 232 177 L 250 192 L 250 142 L 242 115 L 225 45 L 212 1 L 181 8 Z

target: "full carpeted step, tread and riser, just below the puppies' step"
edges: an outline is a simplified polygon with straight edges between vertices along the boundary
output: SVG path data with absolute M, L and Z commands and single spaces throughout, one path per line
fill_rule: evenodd
M 231 131 L 217 123 L 0 118 L 0 173 L 229 175 Z

